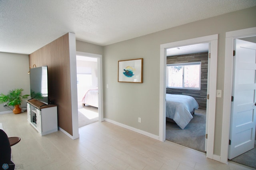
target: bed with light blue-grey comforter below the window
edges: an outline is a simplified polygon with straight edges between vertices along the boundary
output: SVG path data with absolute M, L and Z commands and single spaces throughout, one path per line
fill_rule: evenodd
M 193 118 L 195 109 L 198 109 L 198 103 L 194 97 L 166 94 L 166 121 L 173 120 L 184 129 Z

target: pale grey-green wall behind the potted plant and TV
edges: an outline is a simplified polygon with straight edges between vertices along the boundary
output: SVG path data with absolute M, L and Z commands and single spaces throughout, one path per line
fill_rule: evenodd
M 0 93 L 7 94 L 10 90 L 22 88 L 23 95 L 30 94 L 28 55 L 0 52 Z M 20 107 L 26 107 L 26 100 Z M 0 104 L 0 114 L 11 113 Z

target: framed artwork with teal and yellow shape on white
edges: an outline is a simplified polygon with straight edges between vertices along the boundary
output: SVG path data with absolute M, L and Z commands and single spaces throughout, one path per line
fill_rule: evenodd
M 118 61 L 118 82 L 142 83 L 143 58 Z

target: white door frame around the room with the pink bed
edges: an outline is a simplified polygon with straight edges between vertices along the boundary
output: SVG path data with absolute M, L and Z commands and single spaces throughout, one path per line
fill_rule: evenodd
M 76 51 L 76 55 L 97 58 L 98 69 L 98 121 L 103 121 L 103 85 L 102 85 L 102 55 Z

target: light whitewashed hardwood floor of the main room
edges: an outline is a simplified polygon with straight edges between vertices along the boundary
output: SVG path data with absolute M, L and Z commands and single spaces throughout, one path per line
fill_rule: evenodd
M 12 146 L 12 160 L 26 170 L 249 170 L 228 162 L 206 158 L 206 154 L 160 142 L 108 122 L 96 122 L 79 129 L 72 140 L 58 131 L 46 136 L 28 124 L 26 112 L 0 115 L 10 136 L 21 141 Z

